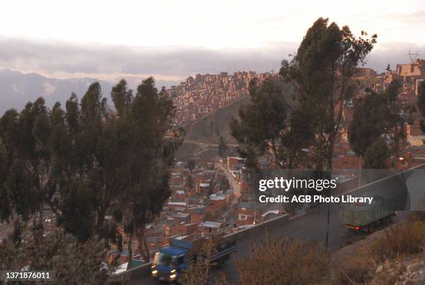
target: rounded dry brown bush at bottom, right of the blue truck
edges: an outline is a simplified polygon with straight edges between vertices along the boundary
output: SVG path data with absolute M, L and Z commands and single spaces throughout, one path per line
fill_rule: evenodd
M 241 284 L 328 284 L 329 260 L 322 244 L 267 236 L 235 264 Z

